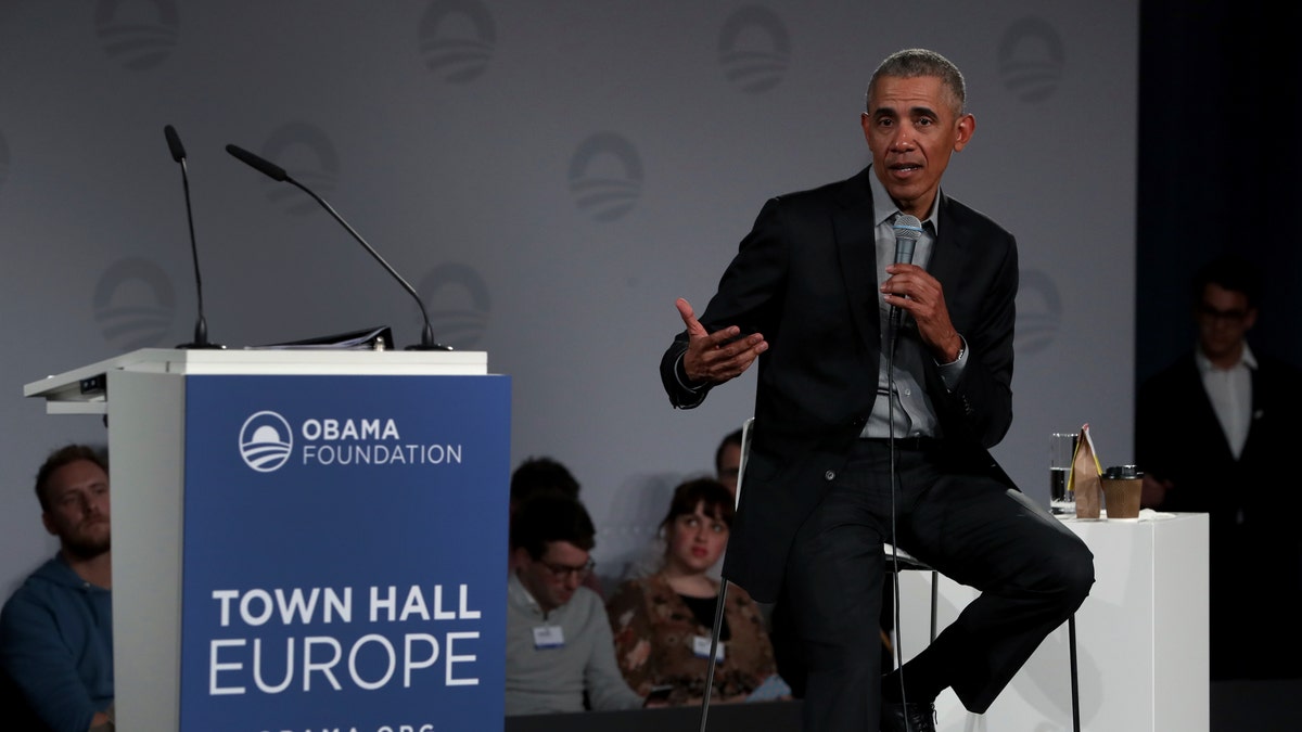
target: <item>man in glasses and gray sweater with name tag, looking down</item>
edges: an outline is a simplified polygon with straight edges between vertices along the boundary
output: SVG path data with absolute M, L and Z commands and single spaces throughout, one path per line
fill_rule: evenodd
M 566 496 L 533 496 L 516 511 L 514 570 L 506 587 L 506 714 L 635 709 L 615 664 L 611 625 L 592 573 L 596 531 L 583 505 Z

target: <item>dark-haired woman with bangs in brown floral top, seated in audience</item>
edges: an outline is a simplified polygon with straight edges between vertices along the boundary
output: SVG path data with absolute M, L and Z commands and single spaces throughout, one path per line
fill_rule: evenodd
M 706 693 L 719 582 L 706 574 L 728 543 L 732 494 L 719 481 L 678 486 L 661 522 L 664 563 L 659 572 L 620 585 L 607 604 L 615 653 L 638 693 L 669 685 L 669 705 L 699 703 Z M 777 677 L 773 649 L 759 607 L 745 590 L 728 587 L 719 636 L 715 696 L 723 702 L 789 693 Z

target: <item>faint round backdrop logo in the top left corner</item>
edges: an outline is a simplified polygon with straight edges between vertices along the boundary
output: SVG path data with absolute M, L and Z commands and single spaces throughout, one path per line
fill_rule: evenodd
M 99 0 L 95 5 L 95 35 L 104 53 L 133 72 L 165 61 L 176 48 L 180 25 L 174 0 Z

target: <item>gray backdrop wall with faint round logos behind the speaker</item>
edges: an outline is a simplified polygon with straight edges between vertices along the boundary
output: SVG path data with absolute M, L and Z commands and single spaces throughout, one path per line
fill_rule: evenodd
M 704 306 L 767 197 L 867 162 L 865 85 L 906 46 L 967 76 L 976 134 L 947 191 L 1021 242 L 997 456 L 1047 504 L 1049 431 L 1090 422 L 1104 462 L 1131 457 L 1134 0 L 0 4 L 0 590 L 56 548 L 31 495 L 44 453 L 104 440 L 22 386 L 191 337 L 164 125 L 189 152 L 212 339 L 419 336 L 410 297 L 236 143 L 362 232 L 439 340 L 513 378 L 513 461 L 574 470 L 609 578 L 750 414 L 753 376 L 669 408 L 673 300 Z

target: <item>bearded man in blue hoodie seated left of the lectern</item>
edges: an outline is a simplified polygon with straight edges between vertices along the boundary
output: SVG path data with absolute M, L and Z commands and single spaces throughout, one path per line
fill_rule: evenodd
M 113 702 L 107 461 L 86 445 L 52 452 L 36 473 L 36 500 L 46 530 L 59 537 L 59 554 L 0 612 L 0 666 L 49 729 L 107 729 Z

